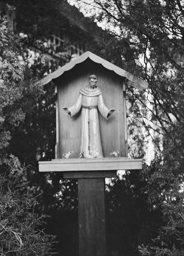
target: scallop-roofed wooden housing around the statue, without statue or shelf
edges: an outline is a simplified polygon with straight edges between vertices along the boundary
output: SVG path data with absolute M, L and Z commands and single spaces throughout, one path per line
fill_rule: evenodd
M 98 79 L 97 86 L 102 92 L 104 104 L 108 109 L 115 109 L 108 119 L 105 112 L 99 115 L 92 111 L 90 113 L 94 124 L 99 121 L 102 142 L 102 148 L 96 148 L 93 157 L 109 158 L 114 151 L 118 151 L 120 157 L 127 156 L 126 83 L 138 88 L 146 88 L 146 83 L 97 55 L 86 52 L 42 80 L 44 83 L 52 80 L 56 84 L 55 159 L 62 159 L 63 154 L 68 152 L 82 153 L 82 108 L 70 118 L 63 107 L 76 103 L 79 92 L 89 84 L 92 74 Z

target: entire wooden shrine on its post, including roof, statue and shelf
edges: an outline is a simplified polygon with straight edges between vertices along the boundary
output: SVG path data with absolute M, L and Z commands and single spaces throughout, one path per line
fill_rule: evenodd
M 79 255 L 106 256 L 105 177 L 115 177 L 121 169 L 142 168 L 142 159 L 127 158 L 126 84 L 140 89 L 148 85 L 91 52 L 49 74 L 40 83 L 51 80 L 57 93 L 55 159 L 39 162 L 39 171 L 62 171 L 64 178 L 78 179 Z M 93 82 L 97 82 L 96 94 Z M 94 100 L 98 101 L 95 107 L 91 106 L 94 101 L 85 91 L 88 84 L 89 92 L 92 91 Z M 100 100 L 105 105 L 100 104 Z M 99 148 L 92 143 L 97 140 L 95 122 L 99 122 Z M 81 150 L 84 151 L 82 158 Z

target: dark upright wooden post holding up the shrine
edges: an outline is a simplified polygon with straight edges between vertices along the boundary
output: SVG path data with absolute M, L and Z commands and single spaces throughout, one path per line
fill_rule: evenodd
M 106 256 L 105 179 L 78 179 L 79 255 Z

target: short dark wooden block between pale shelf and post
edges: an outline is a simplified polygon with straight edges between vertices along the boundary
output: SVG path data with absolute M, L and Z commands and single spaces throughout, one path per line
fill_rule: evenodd
M 113 178 L 117 177 L 117 171 L 86 171 L 86 172 L 64 172 L 64 179 L 81 179 L 81 178 Z

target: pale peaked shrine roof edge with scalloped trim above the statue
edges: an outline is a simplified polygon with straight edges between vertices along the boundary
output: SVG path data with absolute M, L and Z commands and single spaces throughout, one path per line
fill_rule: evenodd
M 49 83 L 52 79 L 56 79 L 57 77 L 61 76 L 65 71 L 72 69 L 75 65 L 82 63 L 83 61 L 85 61 L 88 58 L 91 61 L 94 61 L 95 63 L 102 64 L 102 66 L 107 68 L 108 70 L 112 70 L 116 74 L 118 74 L 122 77 L 126 77 L 128 85 L 133 86 L 135 88 L 139 88 L 139 89 L 148 88 L 148 83 L 146 81 L 134 76 L 133 74 L 130 74 L 129 72 L 125 71 L 124 69 L 112 64 L 109 61 L 102 59 L 101 57 L 99 57 L 89 51 L 82 54 L 81 56 L 77 57 L 75 60 L 70 61 L 63 67 L 60 67 L 59 69 L 52 72 L 51 74 L 48 74 L 41 81 L 39 81 L 39 83 L 41 83 L 43 85 Z

